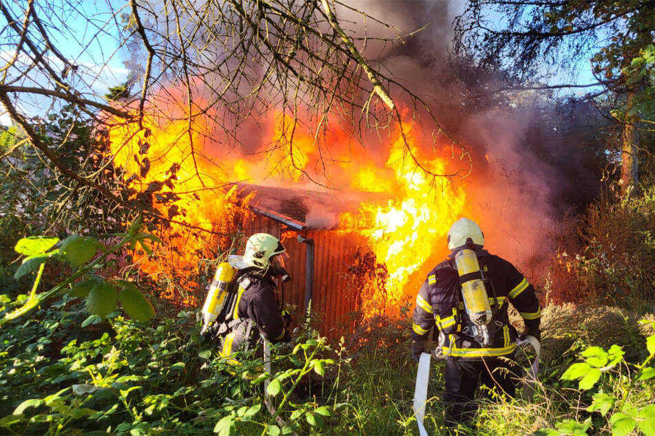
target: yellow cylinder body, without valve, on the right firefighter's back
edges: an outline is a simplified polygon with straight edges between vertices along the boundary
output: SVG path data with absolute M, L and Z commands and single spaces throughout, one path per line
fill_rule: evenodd
M 473 250 L 464 249 L 455 256 L 459 277 L 466 279 L 466 274 L 480 271 L 480 264 Z M 484 282 L 480 276 L 471 276 L 470 280 L 461 283 L 461 295 L 464 297 L 464 307 L 471 322 L 475 325 L 487 325 L 492 317 L 491 306 Z

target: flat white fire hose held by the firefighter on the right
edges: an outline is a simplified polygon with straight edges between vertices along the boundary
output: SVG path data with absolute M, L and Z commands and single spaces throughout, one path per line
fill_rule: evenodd
M 526 336 L 526 338 L 517 340 L 517 345 L 530 345 L 537 356 L 534 358 L 534 361 L 530 365 L 530 371 L 528 371 L 528 380 L 526 386 L 530 391 L 534 391 L 534 384 L 537 383 L 537 374 L 539 373 L 539 353 L 541 352 L 541 345 L 539 340 L 534 336 Z M 419 358 L 419 367 L 416 373 L 416 384 L 414 387 L 414 413 L 416 417 L 416 423 L 419 426 L 419 435 L 427 436 L 428 432 L 423 424 L 425 419 L 425 408 L 426 402 L 428 399 L 428 381 L 430 379 L 430 360 L 432 358 L 431 353 L 421 353 L 421 358 Z

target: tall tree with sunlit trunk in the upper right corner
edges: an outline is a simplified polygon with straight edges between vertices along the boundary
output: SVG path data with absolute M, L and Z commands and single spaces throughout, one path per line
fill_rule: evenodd
M 572 72 L 592 54 L 598 81 L 583 86 L 602 87 L 623 102 L 614 115 L 623 125 L 619 184 L 626 195 L 638 182 L 635 131 L 642 118 L 635 102 L 652 87 L 652 76 L 636 75 L 631 65 L 653 45 L 653 28 L 652 0 L 470 0 L 455 19 L 455 48 L 481 64 L 502 59 L 514 85 L 533 89 L 535 77 L 560 66 Z

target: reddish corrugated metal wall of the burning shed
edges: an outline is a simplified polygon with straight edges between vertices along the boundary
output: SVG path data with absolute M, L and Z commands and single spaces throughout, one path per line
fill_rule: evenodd
M 271 219 L 256 215 L 246 235 L 266 232 L 281 237 L 282 226 Z M 284 302 L 298 307 L 302 314 L 305 293 L 306 244 L 298 242 L 295 233 L 283 239 L 289 253 L 287 272 L 292 280 L 284 285 Z M 340 235 L 334 230 L 301 232 L 314 240 L 313 310 L 322 316 L 318 329 L 329 338 L 339 338 L 353 326 L 353 311 L 357 307 L 357 289 L 352 262 L 357 241 L 351 235 Z

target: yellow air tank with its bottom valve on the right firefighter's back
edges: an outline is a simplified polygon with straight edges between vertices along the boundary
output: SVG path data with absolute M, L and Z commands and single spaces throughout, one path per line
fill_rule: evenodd
M 491 338 L 486 325 L 491 321 L 492 312 L 477 255 L 473 250 L 460 250 L 455 255 L 455 264 L 466 314 L 472 323 L 472 336 L 482 345 L 489 345 Z

